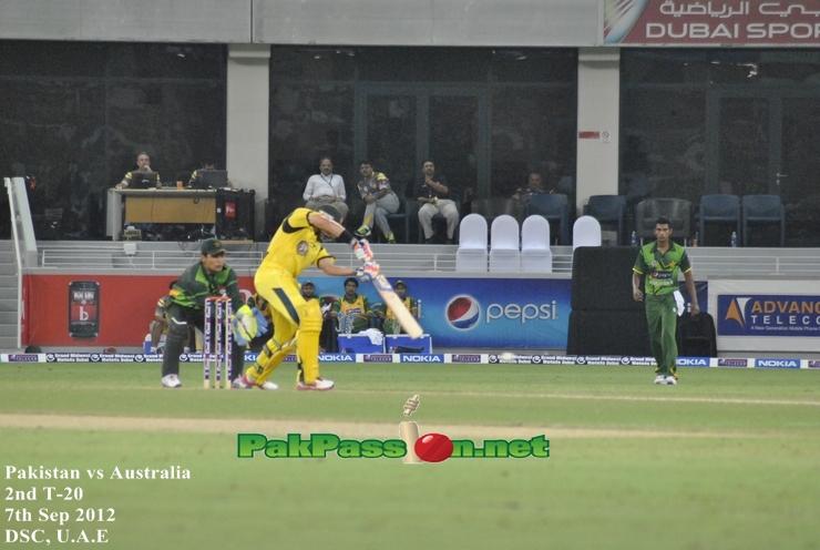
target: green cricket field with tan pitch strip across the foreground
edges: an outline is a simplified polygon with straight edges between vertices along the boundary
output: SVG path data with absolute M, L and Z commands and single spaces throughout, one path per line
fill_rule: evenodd
M 676 387 L 650 367 L 322 366 L 337 388 L 160 387 L 158 364 L 0 365 L 0 467 L 8 530 L 107 529 L 110 549 L 165 548 L 820 548 L 820 371 L 684 368 Z M 254 459 L 237 432 L 398 438 L 404 401 L 421 434 L 550 439 L 547 459 Z M 79 469 L 80 480 L 7 479 Z M 178 466 L 191 480 L 111 479 L 115 467 Z M 86 469 L 103 470 L 89 479 Z M 80 487 L 45 500 L 42 487 Z M 37 500 L 16 491 L 38 488 Z M 79 522 L 78 508 L 114 509 Z M 65 511 L 64 526 L 38 521 Z M 14 544 L 7 544 L 13 548 Z M 42 544 L 38 544 L 42 547 Z

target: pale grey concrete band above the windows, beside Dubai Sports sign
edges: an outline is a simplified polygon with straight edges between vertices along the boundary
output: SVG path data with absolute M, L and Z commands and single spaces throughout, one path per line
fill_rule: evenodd
M 3 0 L 0 39 L 336 45 L 599 44 L 599 0 Z

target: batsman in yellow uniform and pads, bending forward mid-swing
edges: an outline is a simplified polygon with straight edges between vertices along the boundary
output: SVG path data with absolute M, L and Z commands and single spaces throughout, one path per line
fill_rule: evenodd
M 339 211 L 330 205 L 318 211 L 296 208 L 276 231 L 254 279 L 256 292 L 273 308 L 274 337 L 265 344 L 245 376 L 234 380 L 234 387 L 263 387 L 274 369 L 296 348 L 299 364 L 296 389 L 332 389 L 334 383 L 319 376 L 321 308 L 316 299 L 305 301 L 296 277 L 309 265 L 316 265 L 328 275 L 355 275 L 362 281 L 371 281 L 379 274 L 368 242 L 356 238 L 339 225 Z M 321 244 L 322 235 L 349 243 L 365 265 L 358 269 L 336 265 L 336 258 Z M 275 389 L 270 386 L 265 385 L 266 389 Z

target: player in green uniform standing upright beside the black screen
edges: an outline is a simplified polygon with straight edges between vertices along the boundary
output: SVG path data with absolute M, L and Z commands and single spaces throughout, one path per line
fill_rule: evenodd
M 632 295 L 636 302 L 646 303 L 646 320 L 649 325 L 649 343 L 655 357 L 655 384 L 677 384 L 675 363 L 678 347 L 675 342 L 677 329 L 678 274 L 684 273 L 686 289 L 691 298 L 691 314 L 700 313 L 695 279 L 686 248 L 673 242 L 672 224 L 660 216 L 655 222 L 655 242 L 640 247 L 635 266 L 632 268 Z M 640 277 L 646 277 L 645 291 L 640 289 Z

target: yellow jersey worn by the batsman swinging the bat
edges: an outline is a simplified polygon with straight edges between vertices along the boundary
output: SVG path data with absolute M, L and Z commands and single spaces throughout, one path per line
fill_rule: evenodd
M 281 222 L 259 269 L 285 269 L 296 277 L 309 265 L 318 265 L 326 257 L 332 258 L 308 221 L 311 213 L 310 208 L 296 208 Z

